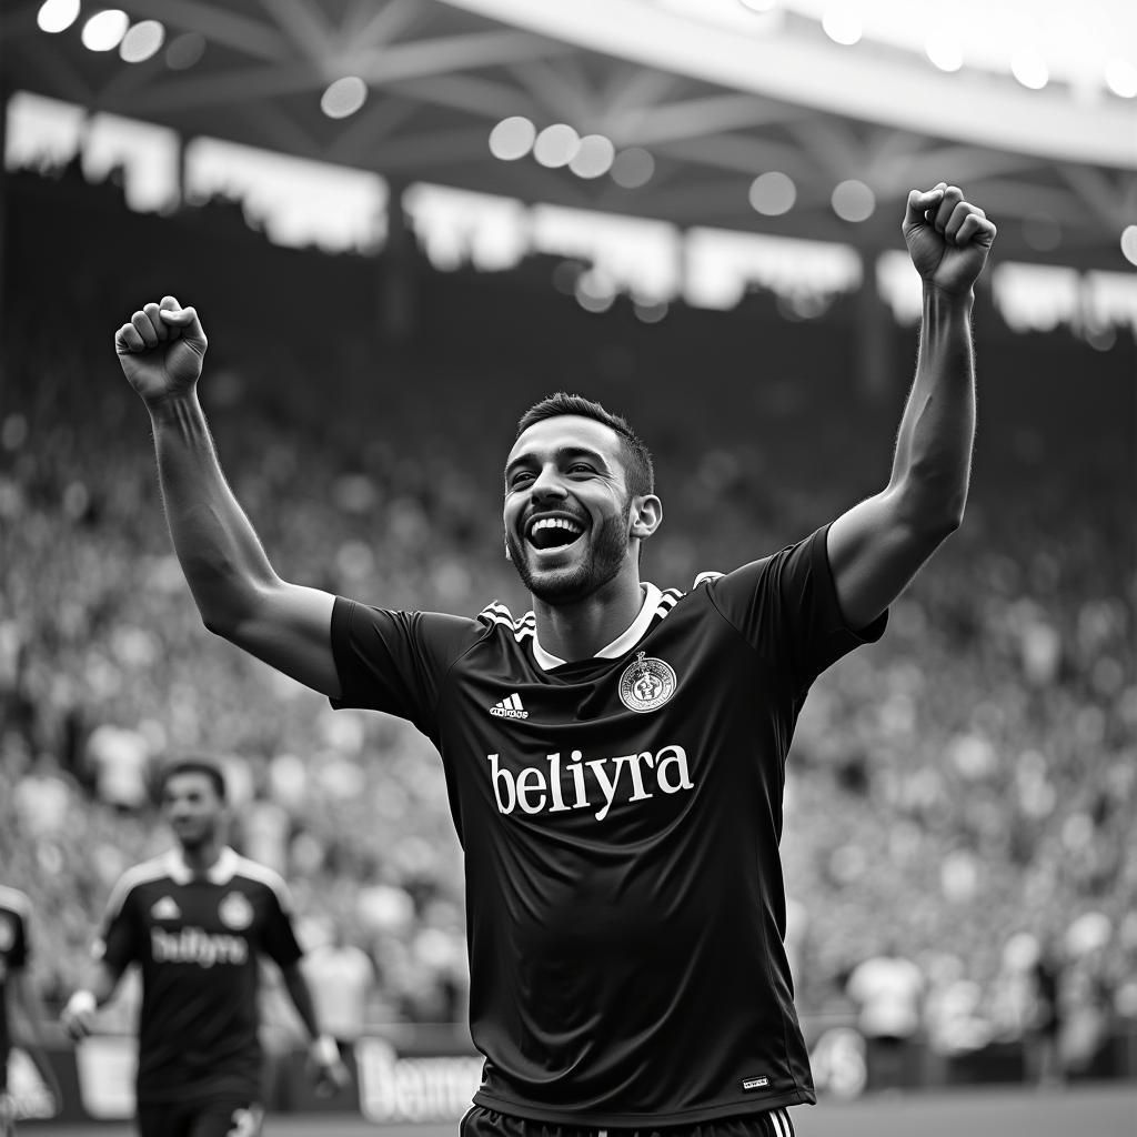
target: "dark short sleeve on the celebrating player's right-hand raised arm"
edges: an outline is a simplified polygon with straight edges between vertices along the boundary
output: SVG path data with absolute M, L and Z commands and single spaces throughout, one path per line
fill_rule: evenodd
M 837 600 L 825 525 L 797 545 L 705 587 L 714 606 L 764 657 L 786 669 L 795 690 L 862 644 L 880 639 L 882 613 L 868 628 L 845 622 Z

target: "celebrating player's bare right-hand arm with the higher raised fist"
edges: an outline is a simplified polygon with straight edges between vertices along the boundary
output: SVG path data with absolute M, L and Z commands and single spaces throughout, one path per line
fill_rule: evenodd
M 864 628 L 963 520 L 976 432 L 972 287 L 995 226 L 955 185 L 908 194 L 903 224 L 923 282 L 915 380 L 888 485 L 838 517 L 827 539 L 847 624 Z

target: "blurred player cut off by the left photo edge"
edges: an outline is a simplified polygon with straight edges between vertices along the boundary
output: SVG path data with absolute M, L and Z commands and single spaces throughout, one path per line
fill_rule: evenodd
M 11 1053 L 11 1006 L 24 1018 L 26 1045 L 48 1087 L 59 1098 L 59 1086 L 43 1051 L 43 1006 L 32 980 L 28 922 L 32 902 L 22 891 L 0 885 L 0 1137 L 15 1132 L 15 1109 L 8 1094 L 8 1056 Z

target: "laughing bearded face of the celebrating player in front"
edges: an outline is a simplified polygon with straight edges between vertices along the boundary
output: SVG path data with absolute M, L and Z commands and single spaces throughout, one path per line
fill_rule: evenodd
M 628 492 L 620 435 L 580 415 L 530 426 L 505 468 L 505 539 L 525 588 L 548 604 L 582 600 L 636 567 L 648 536 L 644 503 Z M 654 506 L 649 504 L 649 512 Z

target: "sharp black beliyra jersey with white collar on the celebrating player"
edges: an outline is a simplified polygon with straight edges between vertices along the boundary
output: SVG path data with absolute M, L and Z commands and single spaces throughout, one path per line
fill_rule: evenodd
M 825 530 L 563 663 L 532 613 L 338 598 L 333 706 L 414 722 L 465 854 L 474 1102 L 546 1121 L 678 1124 L 814 1101 L 782 939 L 786 754 L 860 634 Z

